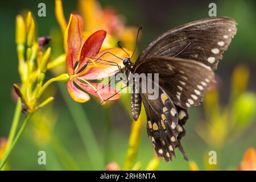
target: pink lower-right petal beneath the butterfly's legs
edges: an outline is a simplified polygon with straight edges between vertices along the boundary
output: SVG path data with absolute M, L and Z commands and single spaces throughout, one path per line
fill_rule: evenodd
M 101 83 L 84 84 L 82 82 L 76 81 L 76 84 L 79 85 L 86 92 L 92 94 L 95 97 L 98 97 L 101 102 L 105 100 L 116 101 L 121 96 L 119 93 L 117 93 L 117 90 L 113 89 L 110 86 L 104 87 L 104 84 Z M 98 92 L 96 92 L 96 90 L 98 90 Z

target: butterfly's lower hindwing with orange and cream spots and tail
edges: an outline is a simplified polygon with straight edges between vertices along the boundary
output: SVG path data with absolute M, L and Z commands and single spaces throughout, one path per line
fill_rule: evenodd
M 171 98 L 160 87 L 157 98 L 149 100 L 148 95 L 150 94 L 142 93 L 141 98 L 147 114 L 147 133 L 156 154 L 163 156 L 168 162 L 172 156 L 175 156 L 175 148 L 179 147 L 184 158 L 187 159 L 179 140 L 184 131 L 180 130 L 183 125 L 179 125 L 179 113 Z

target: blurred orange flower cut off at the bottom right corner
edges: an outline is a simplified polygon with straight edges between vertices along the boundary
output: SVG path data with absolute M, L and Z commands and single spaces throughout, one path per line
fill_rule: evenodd
M 238 171 L 256 171 L 256 150 L 254 148 L 249 148 L 240 166 L 237 168 Z

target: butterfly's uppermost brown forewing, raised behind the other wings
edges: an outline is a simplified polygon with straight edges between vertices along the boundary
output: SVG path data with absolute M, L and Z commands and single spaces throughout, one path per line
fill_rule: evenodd
M 187 23 L 156 38 L 135 64 L 150 57 L 180 57 L 200 61 L 215 70 L 236 32 L 236 21 L 226 17 Z

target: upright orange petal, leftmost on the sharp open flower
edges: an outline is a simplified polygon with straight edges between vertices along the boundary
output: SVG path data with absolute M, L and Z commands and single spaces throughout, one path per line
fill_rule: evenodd
M 73 55 L 73 65 L 78 60 L 79 51 L 81 48 L 81 32 L 80 32 L 79 18 L 71 14 L 69 18 L 68 27 L 65 31 L 65 49 L 67 52 L 71 51 Z

